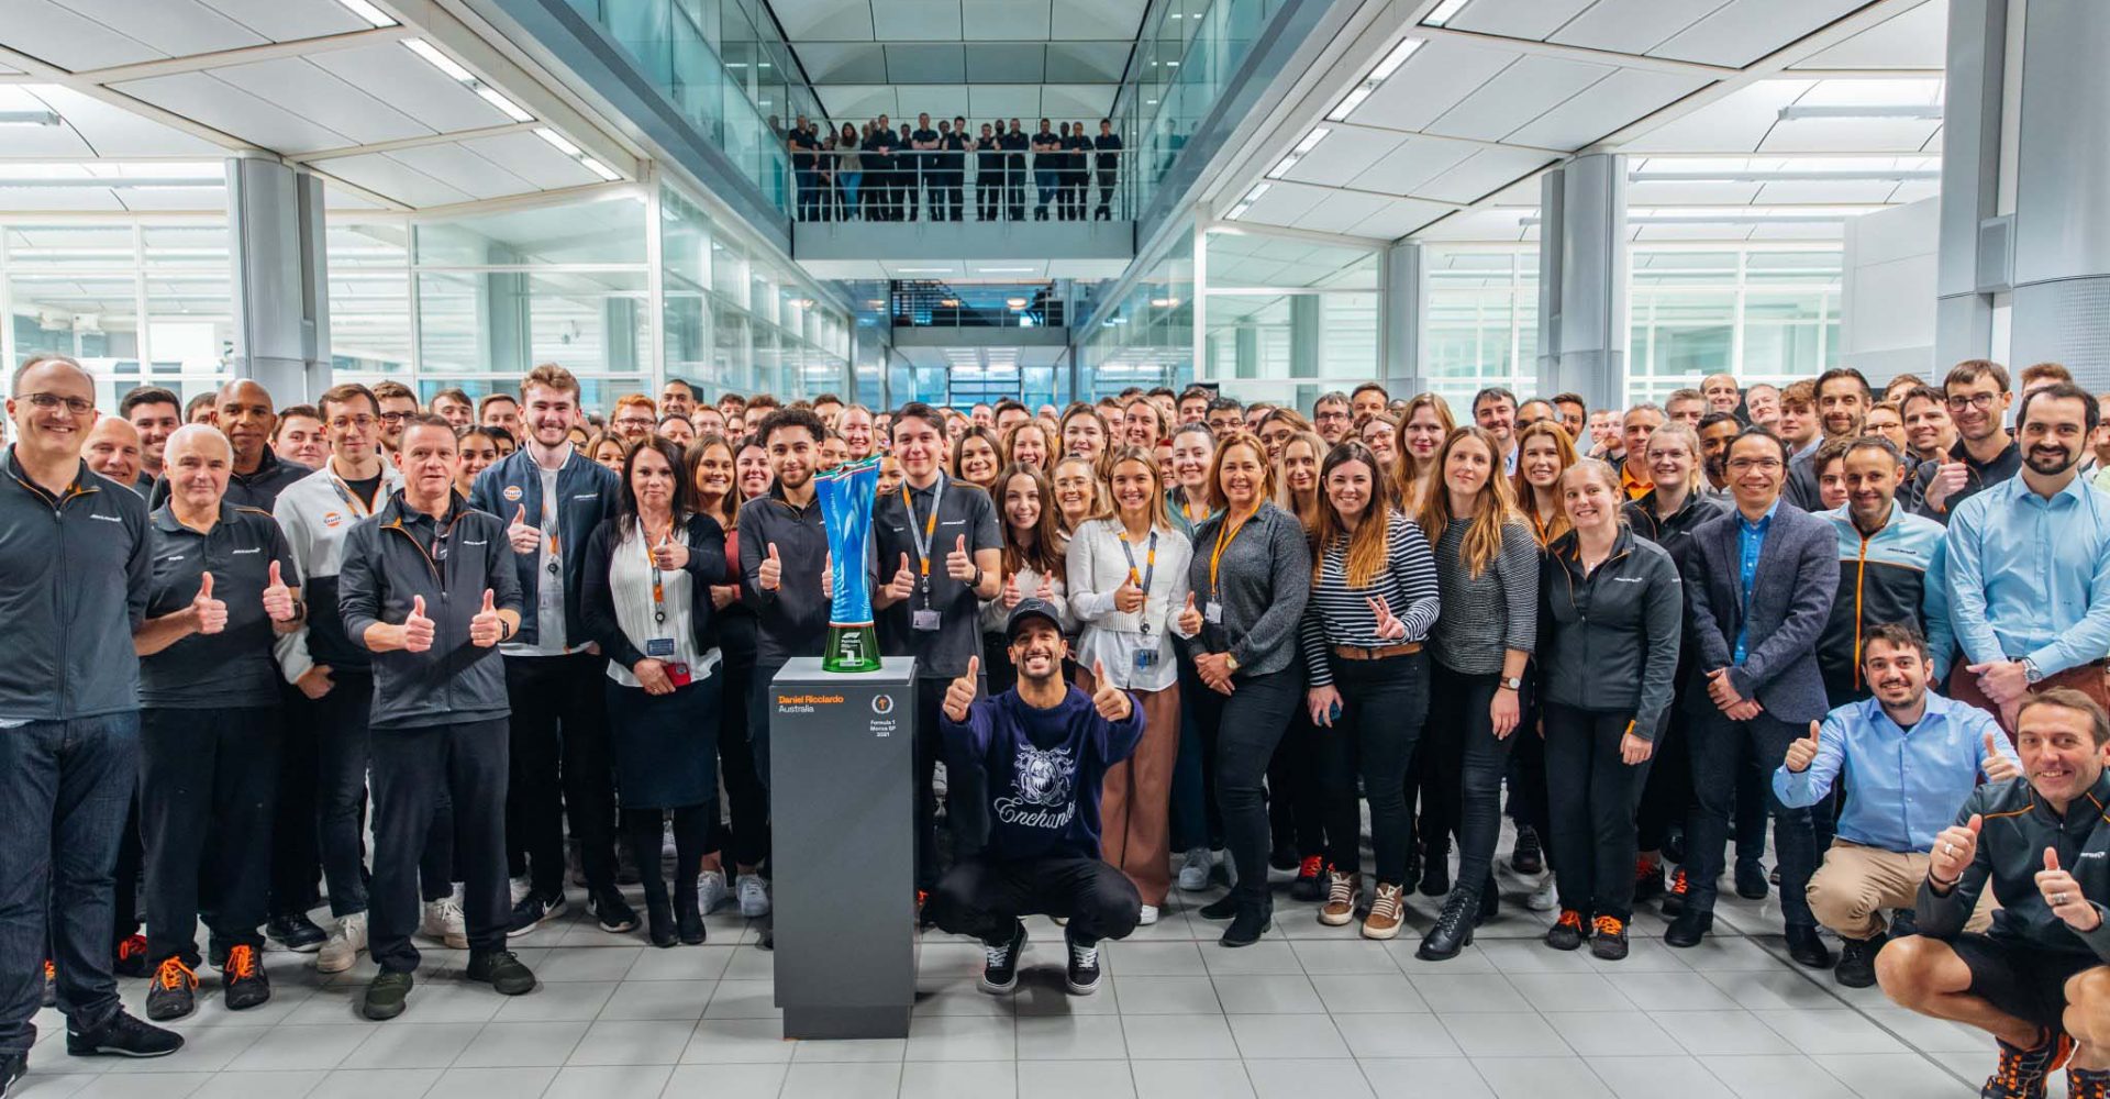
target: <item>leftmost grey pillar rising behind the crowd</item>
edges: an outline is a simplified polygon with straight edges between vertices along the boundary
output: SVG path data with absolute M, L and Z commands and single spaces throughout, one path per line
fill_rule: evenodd
M 232 156 L 234 378 L 251 378 L 281 407 L 329 388 L 329 270 L 323 181 L 279 160 Z

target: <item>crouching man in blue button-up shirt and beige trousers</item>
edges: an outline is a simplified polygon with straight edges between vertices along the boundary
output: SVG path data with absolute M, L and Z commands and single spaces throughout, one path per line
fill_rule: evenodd
M 1850 989 L 1876 983 L 1886 941 L 1882 913 L 1914 905 L 1926 878 L 1926 852 L 1950 806 L 1971 795 L 1979 776 L 2004 783 L 2021 774 L 2015 749 L 1992 715 L 1926 690 L 1926 641 L 1901 622 L 1876 626 L 1861 652 L 1874 698 L 1848 702 L 1810 721 L 1810 736 L 1787 745 L 1772 772 L 1783 806 L 1815 806 L 1846 778 L 1838 837 L 1810 875 L 1810 911 L 1840 934 L 1831 979 Z M 1992 911 L 1971 915 L 1986 930 Z

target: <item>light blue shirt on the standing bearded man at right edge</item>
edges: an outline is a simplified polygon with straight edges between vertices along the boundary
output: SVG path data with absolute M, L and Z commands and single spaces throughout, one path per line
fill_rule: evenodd
M 2074 477 L 2051 498 L 2011 477 L 1950 515 L 1950 620 L 1971 664 L 2045 675 L 2110 654 L 2110 496 Z

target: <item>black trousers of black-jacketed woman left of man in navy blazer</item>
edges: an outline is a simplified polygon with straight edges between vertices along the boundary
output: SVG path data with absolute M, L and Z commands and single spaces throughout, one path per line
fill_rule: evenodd
M 1545 702 L 1547 804 L 1553 821 L 1553 880 L 1561 907 L 1585 920 L 1633 920 L 1633 859 L 1639 854 L 1635 808 L 1650 761 L 1620 761 L 1618 743 L 1633 713 L 1601 713 Z

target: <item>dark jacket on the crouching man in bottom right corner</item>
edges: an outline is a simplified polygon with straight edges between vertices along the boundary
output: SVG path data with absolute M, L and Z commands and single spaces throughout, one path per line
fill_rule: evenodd
M 1992 913 L 1992 937 L 2011 945 L 2049 949 L 2066 956 L 2093 953 L 2110 962 L 2110 770 L 2095 778 L 2087 793 L 2066 806 L 2066 818 L 2036 795 L 2028 778 L 1986 783 L 1964 797 L 1956 823 L 1983 816 L 1977 854 L 1964 867 L 1956 886 L 1937 894 L 1931 882 L 1920 882 L 1920 934 L 1956 939 L 1971 920 L 1979 894 L 1992 882 L 2000 911 Z M 2051 913 L 2036 888 L 2036 871 L 2045 869 L 2045 848 L 2059 852 L 2059 869 L 2074 875 L 2080 896 L 2095 905 L 2102 924 L 2080 934 Z

